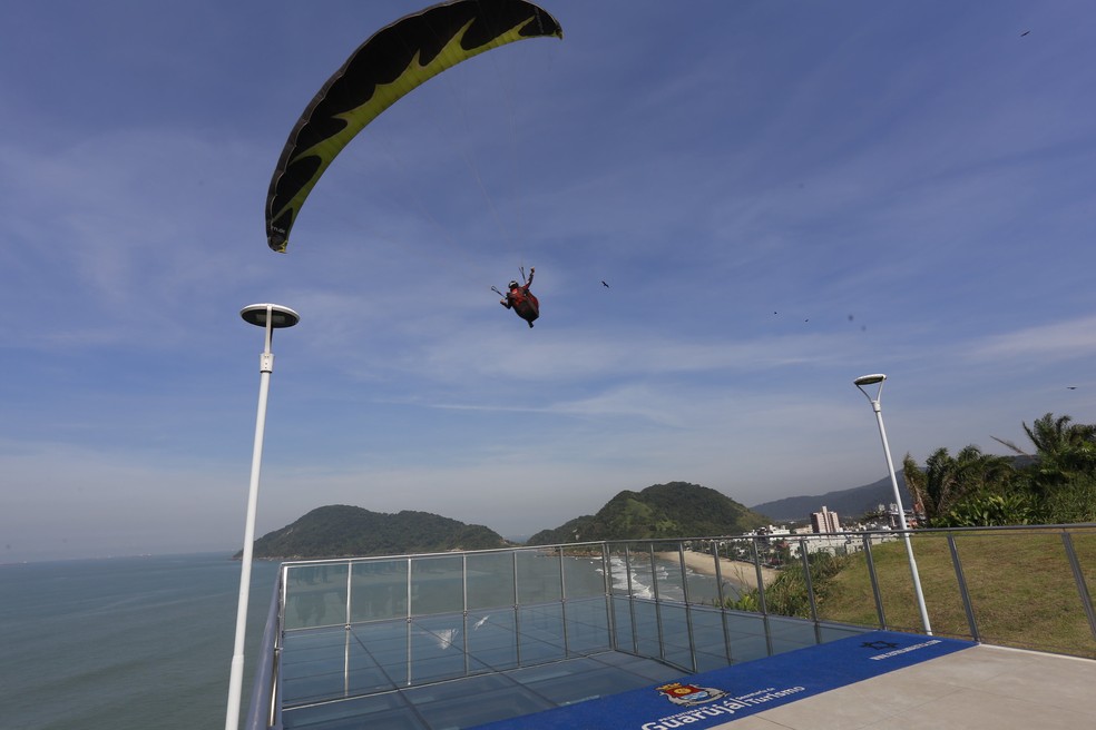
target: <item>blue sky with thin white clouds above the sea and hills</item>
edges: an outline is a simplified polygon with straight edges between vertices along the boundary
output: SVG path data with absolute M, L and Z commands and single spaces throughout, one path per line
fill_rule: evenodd
M 286 136 L 419 3 L 4 8 L 0 561 L 242 543 L 256 302 L 302 316 L 260 534 L 859 486 L 885 475 L 865 373 L 896 461 L 1096 420 L 1092 3 L 542 4 L 562 41 L 384 112 L 286 255 Z M 531 331 L 489 288 L 519 266 Z

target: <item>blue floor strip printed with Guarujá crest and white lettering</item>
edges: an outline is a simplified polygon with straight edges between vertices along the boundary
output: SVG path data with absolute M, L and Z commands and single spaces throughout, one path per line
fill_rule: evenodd
M 873 631 L 477 730 L 701 730 L 973 645 Z

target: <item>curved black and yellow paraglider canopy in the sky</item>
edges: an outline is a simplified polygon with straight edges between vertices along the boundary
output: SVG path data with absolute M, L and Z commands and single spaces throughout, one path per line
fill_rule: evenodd
M 453 0 L 407 16 L 355 50 L 305 108 L 278 158 L 266 198 L 266 239 L 285 253 L 316 181 L 370 121 L 405 93 L 473 56 L 526 38 L 562 38 L 525 0 Z

